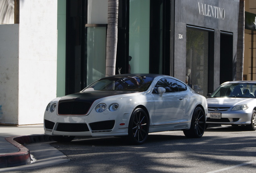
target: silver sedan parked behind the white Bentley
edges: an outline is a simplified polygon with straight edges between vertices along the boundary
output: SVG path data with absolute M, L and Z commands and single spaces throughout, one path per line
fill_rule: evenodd
M 246 125 L 256 130 L 256 81 L 221 84 L 207 99 L 206 125 Z

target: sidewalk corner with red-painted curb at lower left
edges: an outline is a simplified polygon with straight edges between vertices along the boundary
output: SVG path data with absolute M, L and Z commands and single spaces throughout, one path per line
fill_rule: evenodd
M 44 135 L 43 125 L 0 125 L 0 168 L 25 165 L 31 161 L 29 149 L 23 144 L 52 141 Z

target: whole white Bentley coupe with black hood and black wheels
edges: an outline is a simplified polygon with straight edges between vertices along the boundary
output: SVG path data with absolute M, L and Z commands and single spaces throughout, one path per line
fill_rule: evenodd
M 183 130 L 186 137 L 201 137 L 206 112 L 205 97 L 176 78 L 120 74 L 52 100 L 45 110 L 44 129 L 56 141 L 126 136 L 141 144 L 148 133 L 159 131 Z

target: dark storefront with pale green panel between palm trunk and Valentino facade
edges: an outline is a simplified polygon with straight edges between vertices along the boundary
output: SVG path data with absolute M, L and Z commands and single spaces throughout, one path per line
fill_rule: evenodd
M 119 1 L 116 74 L 170 74 L 171 0 Z

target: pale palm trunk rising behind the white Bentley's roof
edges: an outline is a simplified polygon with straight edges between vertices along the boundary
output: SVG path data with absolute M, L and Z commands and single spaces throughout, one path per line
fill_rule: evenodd
M 107 43 L 106 43 L 106 76 L 116 71 L 116 50 L 118 39 L 118 0 L 108 0 Z

